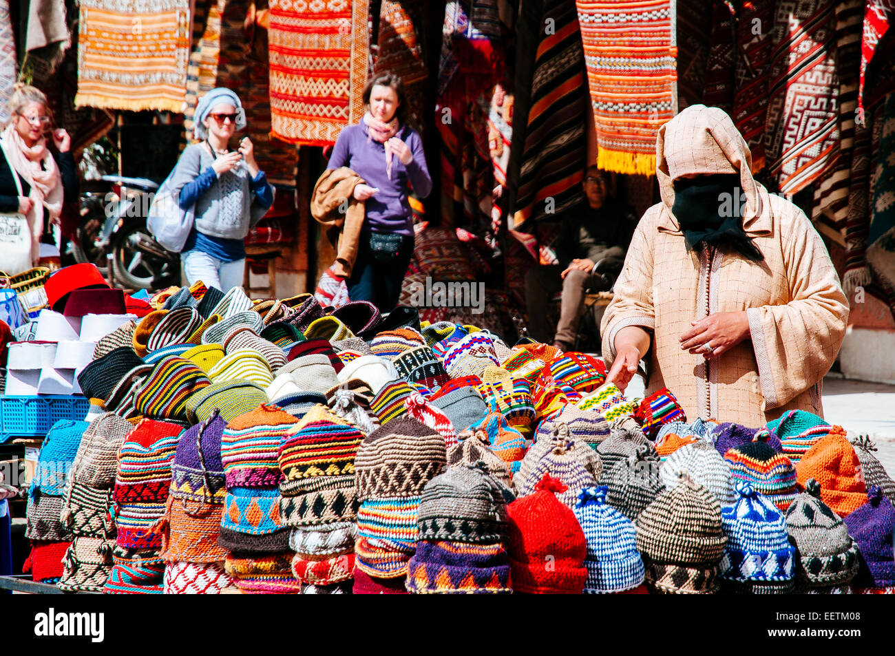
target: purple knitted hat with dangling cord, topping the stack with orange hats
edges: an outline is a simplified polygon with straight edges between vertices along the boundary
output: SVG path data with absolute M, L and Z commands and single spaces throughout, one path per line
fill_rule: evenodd
M 184 430 L 171 464 L 171 496 L 205 503 L 224 503 L 221 436 L 226 422 L 217 410 L 204 422 Z

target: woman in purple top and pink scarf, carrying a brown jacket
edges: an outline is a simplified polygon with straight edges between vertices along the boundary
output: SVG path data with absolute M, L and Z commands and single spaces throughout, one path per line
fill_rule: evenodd
M 367 183 L 354 187 L 365 218 L 357 259 L 347 280 L 352 301 L 395 309 L 413 255 L 409 189 L 429 195 L 432 180 L 422 139 L 405 123 L 404 84 L 394 73 L 374 75 L 363 89 L 367 113 L 339 135 L 328 168 L 347 166 Z

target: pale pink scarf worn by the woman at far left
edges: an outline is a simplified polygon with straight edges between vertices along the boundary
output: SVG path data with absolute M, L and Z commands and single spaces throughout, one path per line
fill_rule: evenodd
M 13 125 L 10 125 L 3 133 L 3 140 L 6 155 L 13 168 L 31 186 L 28 197 L 33 205 L 26 218 L 31 227 L 31 260 L 36 264 L 40 252 L 40 235 L 44 231 L 43 209 L 47 208 L 50 223 L 55 223 L 62 214 L 62 175 L 59 175 L 55 159 L 47 149 L 46 139 L 40 139 L 29 147 Z

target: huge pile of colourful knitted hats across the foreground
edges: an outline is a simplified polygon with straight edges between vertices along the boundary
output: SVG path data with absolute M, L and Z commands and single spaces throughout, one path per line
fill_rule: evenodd
M 86 422 L 47 436 L 72 467 L 33 486 L 32 567 L 72 541 L 64 590 L 895 586 L 895 482 L 809 413 L 687 422 L 590 355 L 407 307 L 201 285 L 150 305 L 81 371 Z

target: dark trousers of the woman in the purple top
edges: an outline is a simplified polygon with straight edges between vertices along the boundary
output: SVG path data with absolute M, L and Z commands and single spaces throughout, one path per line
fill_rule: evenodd
M 374 260 L 370 251 L 370 235 L 361 234 L 357 259 L 351 277 L 345 283 L 352 301 L 370 301 L 380 312 L 395 309 L 401 297 L 407 267 L 413 256 L 413 235 L 405 235 L 395 256 L 386 262 Z

